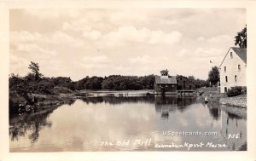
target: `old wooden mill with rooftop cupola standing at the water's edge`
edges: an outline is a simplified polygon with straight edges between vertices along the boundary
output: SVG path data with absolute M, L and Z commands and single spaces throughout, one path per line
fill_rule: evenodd
M 169 76 L 168 70 L 160 71 L 160 76 L 155 76 L 155 94 L 195 94 L 195 84 L 183 76 Z

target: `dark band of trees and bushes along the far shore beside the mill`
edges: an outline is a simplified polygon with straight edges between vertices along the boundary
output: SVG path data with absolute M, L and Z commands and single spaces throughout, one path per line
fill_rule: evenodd
M 143 77 L 111 75 L 108 77 L 86 77 L 79 81 L 73 81 L 67 77 L 47 78 L 39 72 L 38 63 L 32 62 L 29 66 L 32 72 L 25 77 L 11 74 L 9 77 L 9 89 L 15 90 L 20 95 L 27 93 L 35 94 L 58 94 L 69 93 L 73 90 L 109 89 L 109 90 L 137 90 L 154 89 L 154 75 Z M 195 83 L 196 88 L 207 86 L 208 82 L 189 76 L 188 79 Z

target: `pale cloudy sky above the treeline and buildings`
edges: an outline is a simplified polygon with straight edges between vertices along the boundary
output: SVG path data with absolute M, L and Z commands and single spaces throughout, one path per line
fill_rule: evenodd
M 10 9 L 9 73 L 207 79 L 245 26 L 246 9 Z

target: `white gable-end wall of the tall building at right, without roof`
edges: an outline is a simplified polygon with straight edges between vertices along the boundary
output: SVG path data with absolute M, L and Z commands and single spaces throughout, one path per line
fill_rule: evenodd
M 233 58 L 230 57 L 230 52 L 232 52 Z M 240 70 L 238 70 L 238 65 L 240 65 Z M 226 72 L 224 72 L 224 66 L 226 66 Z M 247 86 L 246 83 L 246 63 L 241 60 L 241 58 L 236 55 L 233 49 L 230 49 L 226 55 L 223 64 L 220 66 L 220 86 L 219 91 L 224 93 L 224 88 L 230 89 L 235 86 Z M 235 81 L 236 75 L 236 81 Z M 226 82 L 226 77 L 228 82 Z

